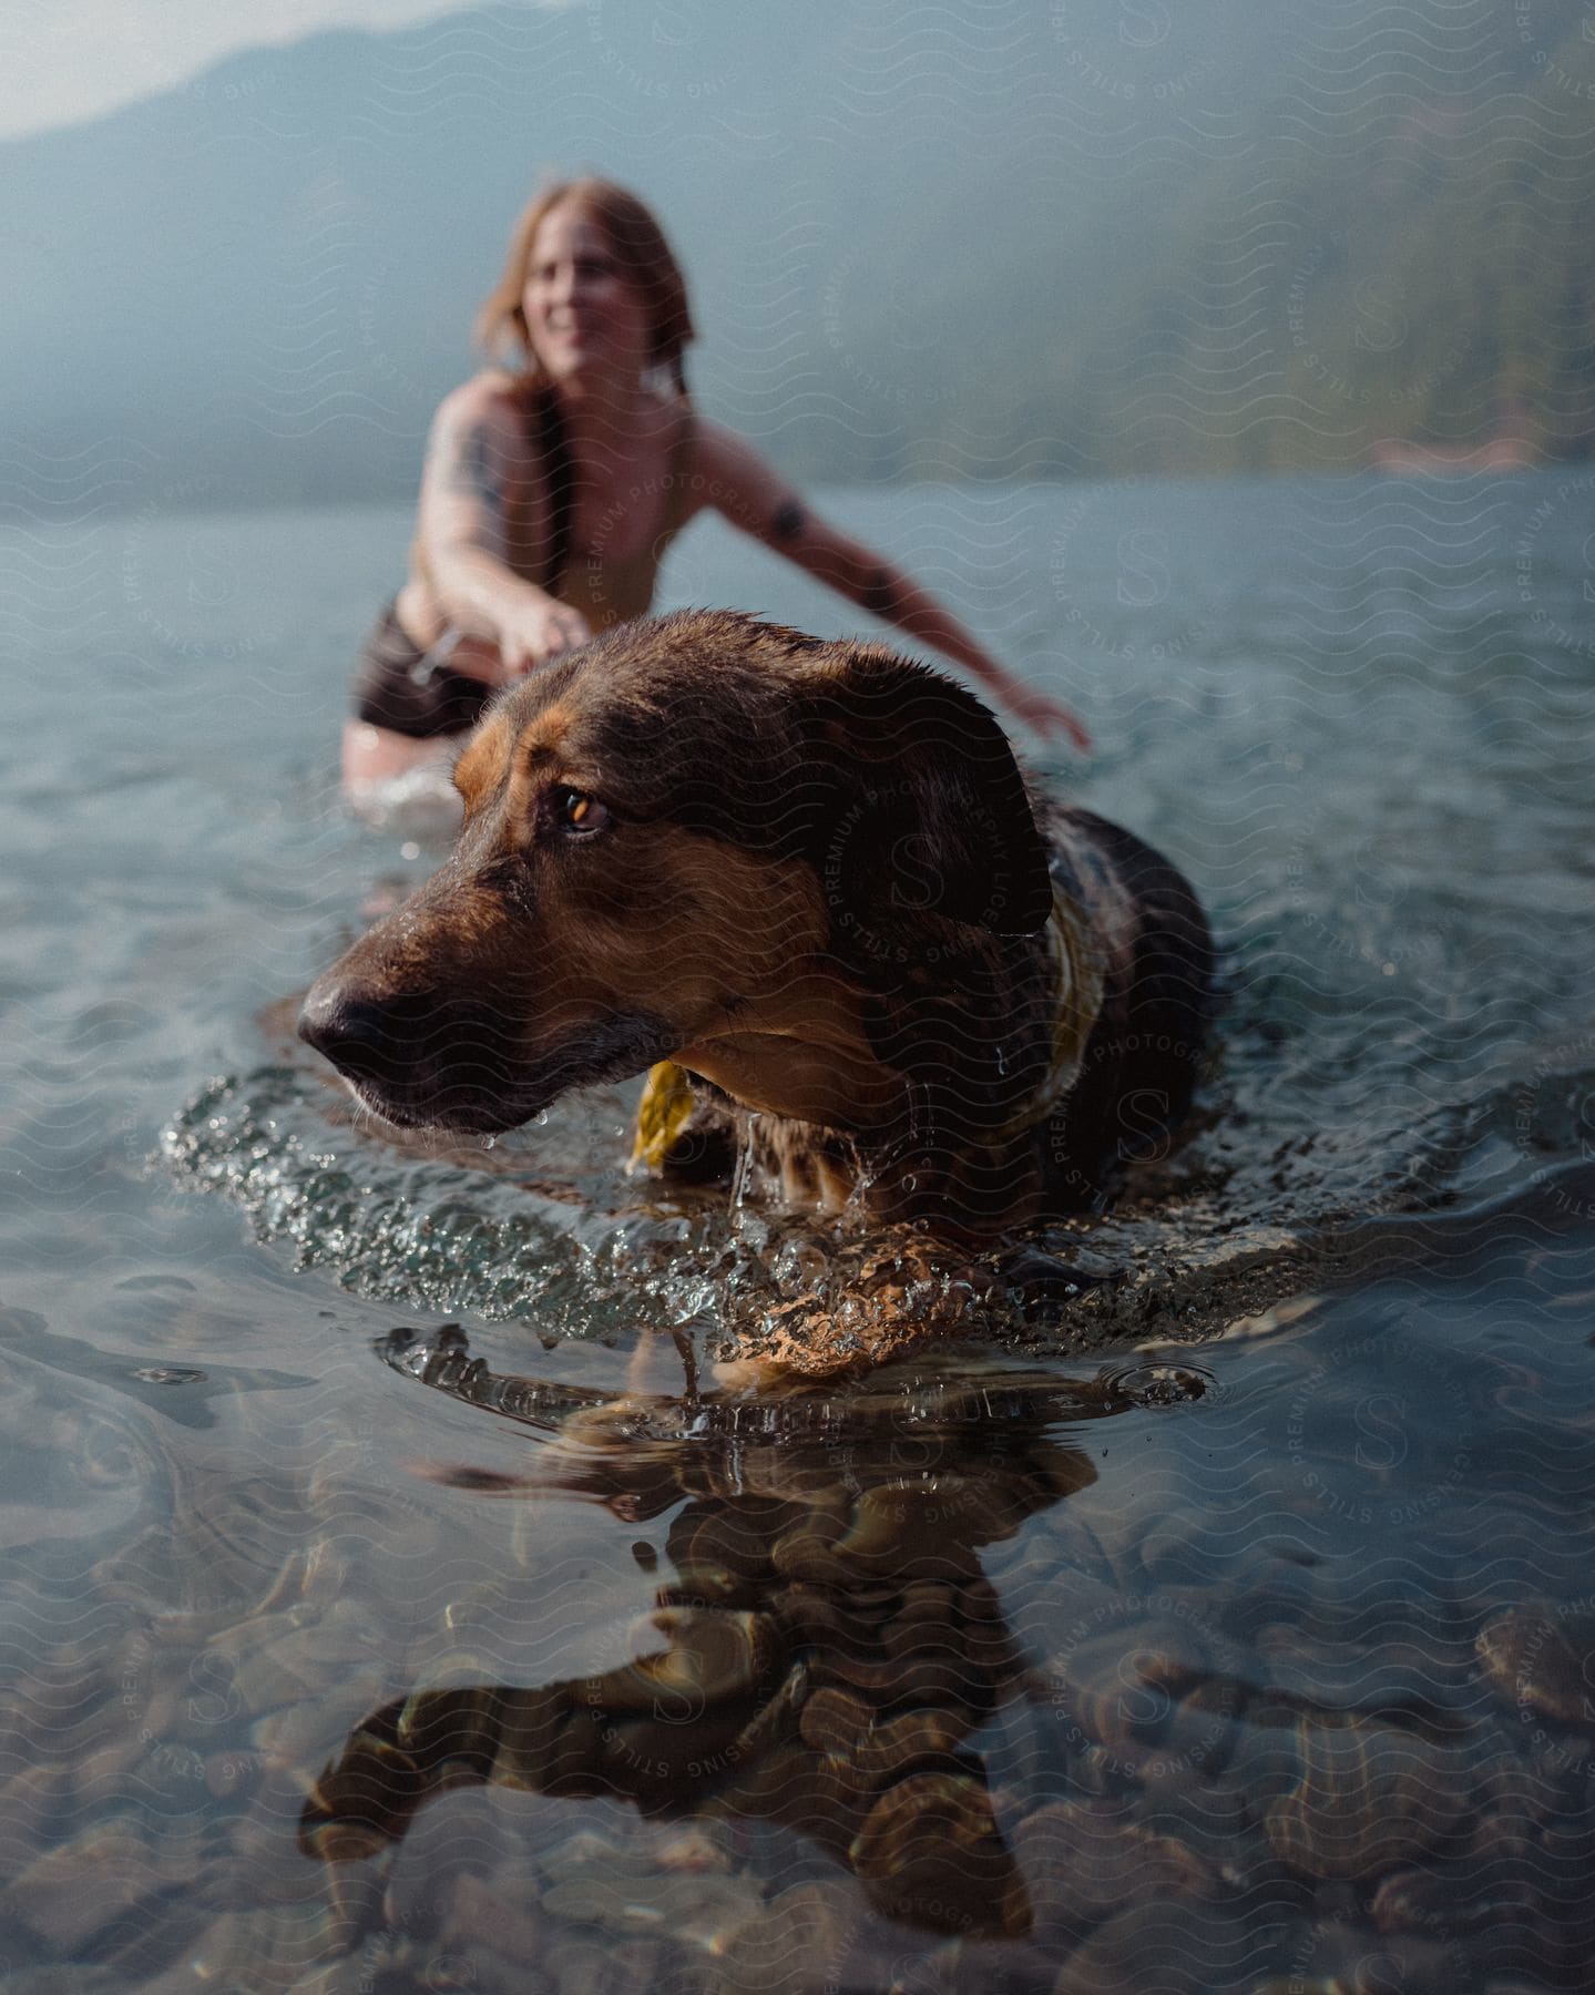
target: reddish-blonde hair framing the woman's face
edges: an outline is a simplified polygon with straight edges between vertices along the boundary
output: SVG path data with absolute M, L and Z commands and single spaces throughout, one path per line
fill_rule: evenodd
M 593 217 L 609 243 L 609 253 L 643 295 L 651 325 L 649 363 L 663 367 L 677 393 L 685 395 L 683 353 L 697 337 L 693 309 L 687 303 L 687 279 L 653 211 L 613 180 L 559 180 L 527 201 L 509 237 L 503 275 L 477 313 L 477 343 L 489 353 L 499 353 L 507 341 L 519 347 L 525 385 L 539 385 L 541 369 L 531 349 L 521 293 L 527 287 L 527 265 L 539 227 L 555 207 L 567 203 Z

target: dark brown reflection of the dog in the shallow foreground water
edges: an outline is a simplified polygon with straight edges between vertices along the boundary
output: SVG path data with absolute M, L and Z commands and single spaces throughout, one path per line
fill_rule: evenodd
M 541 1389 L 493 1379 L 463 1339 L 421 1375 L 547 1420 Z M 629 1524 L 675 1510 L 633 1658 L 537 1688 L 417 1686 L 321 1776 L 301 1847 L 371 1857 L 461 1786 L 619 1796 L 647 1815 L 797 1829 L 876 1911 L 922 1929 L 1026 1933 L 970 1750 L 1022 1666 L 980 1554 L 1096 1478 L 1054 1428 L 1118 1404 L 1110 1387 L 996 1373 L 890 1402 L 567 1412 L 539 1490 L 599 1496 Z

